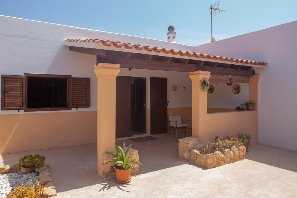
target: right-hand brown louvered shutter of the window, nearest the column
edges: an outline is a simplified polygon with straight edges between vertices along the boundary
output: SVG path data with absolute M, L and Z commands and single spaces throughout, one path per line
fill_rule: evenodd
M 90 79 L 71 78 L 70 100 L 72 108 L 90 107 Z

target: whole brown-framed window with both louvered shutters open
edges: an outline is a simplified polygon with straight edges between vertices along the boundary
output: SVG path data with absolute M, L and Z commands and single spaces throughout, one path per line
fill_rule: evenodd
M 1 110 L 53 111 L 90 107 L 90 79 L 71 75 L 1 75 Z

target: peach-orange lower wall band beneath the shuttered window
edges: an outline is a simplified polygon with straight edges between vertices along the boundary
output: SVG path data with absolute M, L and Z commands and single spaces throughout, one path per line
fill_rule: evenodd
M 97 142 L 97 111 L 0 115 L 0 154 Z

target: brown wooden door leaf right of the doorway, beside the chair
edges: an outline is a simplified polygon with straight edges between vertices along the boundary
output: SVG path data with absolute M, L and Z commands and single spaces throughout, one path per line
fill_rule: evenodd
M 167 132 L 167 78 L 151 77 L 151 134 Z

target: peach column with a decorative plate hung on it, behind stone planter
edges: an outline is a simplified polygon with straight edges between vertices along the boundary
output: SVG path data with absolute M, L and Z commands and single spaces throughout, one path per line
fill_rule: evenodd
M 199 137 L 202 116 L 207 115 L 207 91 L 201 90 L 200 82 L 203 79 L 208 80 L 210 72 L 190 72 L 189 77 L 192 80 L 192 136 Z

